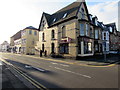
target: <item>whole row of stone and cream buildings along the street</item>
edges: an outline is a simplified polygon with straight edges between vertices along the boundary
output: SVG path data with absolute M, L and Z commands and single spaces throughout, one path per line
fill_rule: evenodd
M 32 26 L 11 37 L 12 52 L 64 57 L 109 54 L 120 50 L 116 24 L 104 24 L 89 13 L 86 2 L 73 2 L 53 14 L 43 12 L 39 28 Z

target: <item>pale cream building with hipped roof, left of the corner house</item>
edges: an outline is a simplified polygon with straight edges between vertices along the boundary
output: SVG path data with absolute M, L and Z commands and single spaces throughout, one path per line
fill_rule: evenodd
M 35 54 L 35 42 L 38 41 L 38 29 L 29 26 L 11 37 L 11 47 L 14 53 Z

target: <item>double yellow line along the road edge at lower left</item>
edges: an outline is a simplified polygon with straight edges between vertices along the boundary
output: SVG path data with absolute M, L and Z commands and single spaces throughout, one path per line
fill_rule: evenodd
M 27 74 L 25 74 L 22 70 L 20 70 L 19 68 L 17 68 L 16 66 L 10 64 L 9 62 L 7 62 L 6 60 L 0 58 L 1 61 L 3 61 L 4 63 L 11 65 L 13 67 L 13 69 L 20 74 L 22 77 L 24 77 L 26 80 L 28 80 L 32 85 L 34 85 L 36 88 L 40 89 L 40 90 L 48 90 L 45 86 L 43 86 L 42 84 L 40 84 L 39 82 L 37 82 L 36 80 L 32 79 L 30 76 L 28 76 Z

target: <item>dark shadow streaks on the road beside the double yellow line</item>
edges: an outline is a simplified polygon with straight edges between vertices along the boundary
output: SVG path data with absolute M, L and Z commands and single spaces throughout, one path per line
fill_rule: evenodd
M 52 71 L 49 71 L 49 70 L 45 70 L 43 68 L 39 68 L 41 70 L 44 70 L 44 71 L 40 71 L 36 68 L 32 68 L 31 65 L 28 65 L 28 64 L 24 64 L 24 63 L 21 63 L 21 62 L 17 62 L 17 61 L 12 61 L 12 60 L 9 60 L 9 59 L 5 59 L 7 62 L 13 64 L 14 66 L 16 67 L 19 67 L 20 70 L 23 71 L 23 73 L 26 73 L 28 76 L 30 76 L 31 78 L 35 79 L 36 81 L 40 82 L 40 84 L 46 86 L 47 88 L 61 88 L 60 86 L 54 84 L 54 83 L 51 83 L 49 81 L 46 81 L 44 80 L 43 78 L 41 77 L 38 77 L 38 75 L 32 75 L 30 72 L 38 72 L 40 74 L 44 74 L 44 75 L 48 75 L 49 77 L 52 76 L 52 78 L 54 77 L 54 75 L 56 75 L 57 73 L 55 72 L 52 72 Z M 27 67 L 26 67 L 27 66 Z

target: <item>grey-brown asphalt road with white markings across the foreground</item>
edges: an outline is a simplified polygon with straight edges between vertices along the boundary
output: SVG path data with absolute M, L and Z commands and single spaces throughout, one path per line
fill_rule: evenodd
M 118 88 L 118 65 L 91 67 L 20 54 L 0 54 L 46 88 Z

